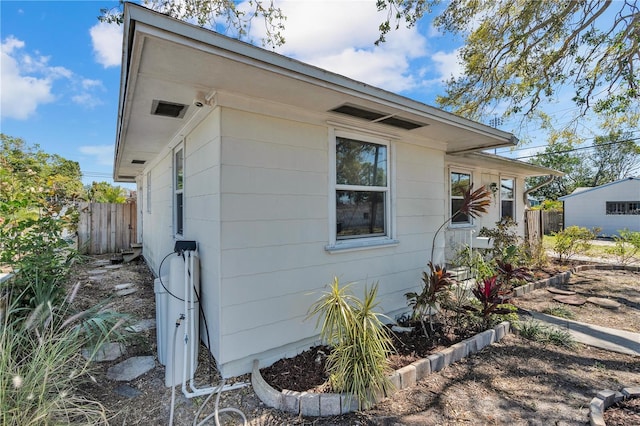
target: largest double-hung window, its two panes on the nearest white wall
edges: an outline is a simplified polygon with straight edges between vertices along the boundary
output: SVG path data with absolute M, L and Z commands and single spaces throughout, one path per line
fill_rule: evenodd
M 335 140 L 336 242 L 390 237 L 389 145 Z

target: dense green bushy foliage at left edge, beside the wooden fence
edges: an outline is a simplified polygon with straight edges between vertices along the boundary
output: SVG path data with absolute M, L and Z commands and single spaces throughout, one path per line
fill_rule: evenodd
M 80 167 L 22 139 L 1 134 L 0 140 L 0 263 L 19 270 L 14 282 L 28 291 L 23 301 L 55 303 L 72 260 Z

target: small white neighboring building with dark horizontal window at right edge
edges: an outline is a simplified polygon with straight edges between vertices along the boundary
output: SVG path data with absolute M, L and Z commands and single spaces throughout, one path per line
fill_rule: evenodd
M 605 236 L 617 235 L 622 229 L 640 232 L 640 178 L 577 188 L 559 200 L 564 203 L 565 228 L 600 228 Z

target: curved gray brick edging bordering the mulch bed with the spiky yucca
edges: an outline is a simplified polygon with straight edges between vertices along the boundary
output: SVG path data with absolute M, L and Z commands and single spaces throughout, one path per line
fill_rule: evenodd
M 416 382 L 424 379 L 429 374 L 440 371 L 454 362 L 479 352 L 495 342 L 499 342 L 509 333 L 510 328 L 511 325 L 508 321 L 501 322 L 492 329 L 478 333 L 440 352 L 431 354 L 427 358 L 419 359 L 394 371 L 389 376 L 389 379 L 395 389 L 386 395 L 378 395 L 376 402 L 391 396 L 398 390 L 414 386 Z M 265 405 L 296 415 L 337 416 L 357 411 L 358 409 L 356 397 L 348 394 L 277 391 L 260 374 L 258 360 L 253 361 L 251 385 L 258 398 Z

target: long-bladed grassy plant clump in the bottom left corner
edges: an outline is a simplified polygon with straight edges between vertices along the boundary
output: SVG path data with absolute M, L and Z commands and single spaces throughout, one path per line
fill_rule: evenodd
M 0 299 L 0 424 L 108 424 L 98 401 L 79 391 L 94 380 L 90 359 L 121 339 L 126 318 L 93 308 L 72 310 L 75 288 L 61 305 L 28 307 L 28 291 L 5 291 Z M 89 350 L 89 359 L 82 355 Z

